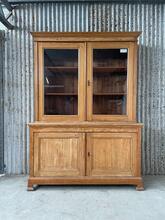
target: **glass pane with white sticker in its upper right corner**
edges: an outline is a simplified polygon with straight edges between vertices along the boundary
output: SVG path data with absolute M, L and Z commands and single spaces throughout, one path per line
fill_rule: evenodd
M 128 49 L 93 50 L 93 114 L 125 115 Z

